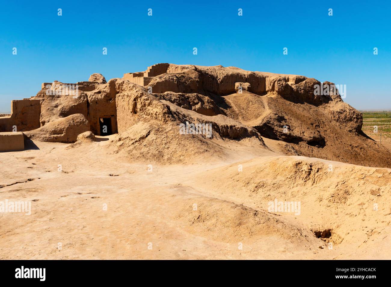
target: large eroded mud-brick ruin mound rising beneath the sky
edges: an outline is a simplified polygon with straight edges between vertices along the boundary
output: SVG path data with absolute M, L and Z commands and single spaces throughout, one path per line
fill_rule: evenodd
M 230 141 L 262 153 L 268 150 L 266 138 L 275 141 L 274 151 L 287 155 L 391 167 L 391 153 L 362 132 L 362 114 L 344 103 L 338 92 L 315 95 L 314 87 L 321 83 L 313 78 L 174 64 L 151 66 L 144 73 L 148 77 L 139 74 L 108 82 L 93 74 L 90 81 L 78 83 L 78 97 L 48 96 L 43 88 L 34 97 L 41 99 L 40 130 L 59 118 L 81 114 L 90 124 L 81 132 L 99 135 L 95 123 L 105 114 L 116 119 L 113 129 L 118 137 L 113 144 L 118 152 L 161 163 L 224 157 Z M 145 86 L 135 83 L 140 79 Z M 210 124 L 212 136 L 182 136 L 179 125 L 186 122 Z M 58 122 L 55 129 L 54 136 L 39 138 L 77 139 L 77 135 L 56 136 Z

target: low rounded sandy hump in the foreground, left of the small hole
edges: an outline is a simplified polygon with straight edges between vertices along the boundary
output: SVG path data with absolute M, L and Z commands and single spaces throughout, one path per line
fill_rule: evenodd
M 197 236 L 226 243 L 254 243 L 267 238 L 283 238 L 306 247 L 318 244 L 310 230 L 302 230 L 278 216 L 242 204 L 195 198 L 176 215 L 183 229 Z M 317 247 L 317 246 L 316 246 Z

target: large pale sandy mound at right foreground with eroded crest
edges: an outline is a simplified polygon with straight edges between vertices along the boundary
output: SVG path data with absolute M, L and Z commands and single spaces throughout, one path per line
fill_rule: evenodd
M 296 156 L 264 157 L 240 165 L 242 171 L 235 164 L 209 172 L 200 190 L 240 198 L 264 210 L 274 200 L 300 202 L 297 218 L 301 223 L 319 234 L 331 230 L 334 244 L 358 247 L 389 232 L 391 169 Z

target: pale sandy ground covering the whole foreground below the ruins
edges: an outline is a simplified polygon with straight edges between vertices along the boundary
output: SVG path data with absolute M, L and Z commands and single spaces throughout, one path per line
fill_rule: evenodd
M 389 169 L 270 151 L 149 165 L 113 137 L 0 154 L 0 201 L 31 202 L 1 214 L 0 259 L 391 258 Z M 274 198 L 300 214 L 268 212 Z

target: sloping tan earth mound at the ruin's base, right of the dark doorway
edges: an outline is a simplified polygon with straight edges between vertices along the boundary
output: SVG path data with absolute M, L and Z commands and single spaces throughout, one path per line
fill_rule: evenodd
M 178 115 L 183 116 L 179 112 Z M 232 126 L 214 123 L 209 138 L 203 134 L 179 134 L 179 122 L 162 125 L 158 120 L 143 118 L 113 138 L 113 144 L 108 148 L 114 147 L 115 153 L 127 158 L 164 164 L 226 159 L 231 156 L 232 145 L 248 147 L 258 153 L 268 151 L 255 130 L 243 127 L 240 123 Z M 249 136 L 249 133 L 253 133 L 253 136 Z

